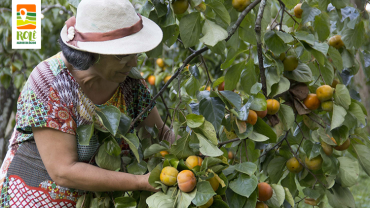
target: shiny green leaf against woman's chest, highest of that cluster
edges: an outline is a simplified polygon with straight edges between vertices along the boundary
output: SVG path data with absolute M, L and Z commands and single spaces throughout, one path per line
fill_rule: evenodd
M 97 108 L 96 113 L 102 119 L 108 131 L 116 135 L 121 118 L 121 111 L 114 106 L 100 106 Z

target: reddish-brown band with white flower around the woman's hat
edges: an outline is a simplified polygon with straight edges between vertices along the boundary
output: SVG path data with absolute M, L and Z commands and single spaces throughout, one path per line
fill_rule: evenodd
M 66 21 L 67 25 L 67 35 L 69 40 L 68 44 L 71 44 L 78 48 L 77 41 L 81 42 L 100 42 L 107 40 L 115 40 L 123 38 L 132 34 L 139 32 L 143 28 L 143 20 L 140 14 L 137 14 L 140 17 L 140 20 L 130 27 L 124 27 L 117 30 L 112 30 L 105 33 L 82 33 L 79 32 L 76 27 L 76 17 L 73 16 Z

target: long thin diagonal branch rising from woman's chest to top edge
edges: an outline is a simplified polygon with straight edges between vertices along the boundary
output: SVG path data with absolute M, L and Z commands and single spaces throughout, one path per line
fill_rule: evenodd
M 229 36 L 225 39 L 225 41 L 228 41 L 231 36 L 235 33 L 236 29 L 239 27 L 240 23 L 243 21 L 244 17 L 260 2 L 261 0 L 256 0 L 254 1 L 253 3 L 251 3 L 249 6 L 247 6 L 247 8 L 239 15 L 237 21 L 235 22 L 235 24 L 231 27 L 230 31 L 229 31 Z M 184 70 L 185 66 L 190 63 L 191 60 L 193 60 L 195 57 L 197 57 L 198 55 L 202 54 L 203 52 L 207 51 L 209 48 L 207 46 L 197 50 L 197 51 L 194 51 L 192 54 L 190 54 L 183 62 L 182 66 L 180 68 L 178 68 L 176 70 L 176 72 L 173 74 L 173 76 L 166 82 L 166 84 L 159 90 L 159 92 L 153 97 L 153 99 L 150 101 L 149 105 L 144 109 L 142 110 L 139 115 L 136 116 L 136 118 L 131 122 L 130 124 L 130 129 L 132 129 L 135 125 L 135 123 L 141 118 L 141 116 L 146 113 L 151 105 L 153 104 L 153 102 L 159 97 L 160 94 L 162 94 L 166 88 L 168 87 L 169 84 L 171 84 L 171 82 L 177 78 L 177 76 L 182 72 L 182 70 Z

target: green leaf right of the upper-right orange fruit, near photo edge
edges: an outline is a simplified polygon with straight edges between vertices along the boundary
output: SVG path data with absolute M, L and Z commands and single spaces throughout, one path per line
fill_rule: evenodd
M 365 33 L 364 22 L 359 21 L 353 30 L 346 28 L 342 32 L 342 40 L 347 48 L 360 48 L 361 45 L 365 42 L 364 36 Z

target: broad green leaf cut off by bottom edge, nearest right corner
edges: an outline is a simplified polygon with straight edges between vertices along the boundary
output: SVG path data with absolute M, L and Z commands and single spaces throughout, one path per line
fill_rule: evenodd
M 355 200 L 348 188 L 335 183 L 333 188 L 326 190 L 329 204 L 335 208 L 355 207 Z

